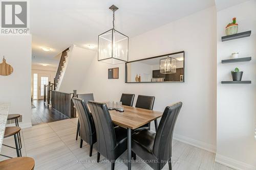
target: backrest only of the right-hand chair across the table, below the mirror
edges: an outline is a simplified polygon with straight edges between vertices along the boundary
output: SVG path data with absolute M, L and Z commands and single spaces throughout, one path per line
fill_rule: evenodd
M 154 102 L 155 102 L 155 96 L 138 95 L 138 99 L 135 107 L 153 110 Z

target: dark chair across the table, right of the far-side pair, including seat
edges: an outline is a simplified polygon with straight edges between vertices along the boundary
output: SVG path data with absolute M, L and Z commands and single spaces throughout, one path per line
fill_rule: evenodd
M 154 102 L 155 102 L 155 96 L 138 95 L 135 107 L 141 108 L 141 109 L 153 110 Z M 157 131 L 157 119 L 155 120 L 155 127 Z M 143 129 L 150 130 L 150 123 L 143 125 L 142 127 L 136 129 L 136 131 L 143 130 Z

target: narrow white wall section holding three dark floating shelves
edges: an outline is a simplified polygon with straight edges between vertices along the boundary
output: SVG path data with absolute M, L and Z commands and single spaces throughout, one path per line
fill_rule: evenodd
M 237 17 L 239 32 L 251 30 L 251 36 L 221 41 L 225 27 Z M 256 169 L 256 1 L 227 8 L 217 13 L 217 156 L 216 161 L 238 169 Z M 252 57 L 249 62 L 221 64 L 221 60 L 239 52 Z M 244 71 L 242 80 L 252 84 L 221 84 L 231 81 L 230 71 Z

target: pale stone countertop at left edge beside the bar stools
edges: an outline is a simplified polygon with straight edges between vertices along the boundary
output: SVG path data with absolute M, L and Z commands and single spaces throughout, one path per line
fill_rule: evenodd
M 0 152 L 3 145 L 9 107 L 10 103 L 0 102 Z

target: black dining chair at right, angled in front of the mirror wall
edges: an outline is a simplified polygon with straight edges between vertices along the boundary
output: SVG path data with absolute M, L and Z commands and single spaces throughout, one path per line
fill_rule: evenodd
M 132 151 L 155 170 L 160 170 L 168 162 L 172 169 L 172 139 L 177 117 L 182 103 L 167 106 L 156 133 L 142 130 L 132 135 Z M 152 161 L 155 160 L 155 161 Z

